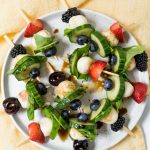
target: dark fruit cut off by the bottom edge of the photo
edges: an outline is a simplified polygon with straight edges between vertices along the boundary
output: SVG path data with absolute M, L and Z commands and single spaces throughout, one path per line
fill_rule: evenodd
M 74 150 L 88 150 L 88 141 L 87 140 L 75 140 L 73 143 Z

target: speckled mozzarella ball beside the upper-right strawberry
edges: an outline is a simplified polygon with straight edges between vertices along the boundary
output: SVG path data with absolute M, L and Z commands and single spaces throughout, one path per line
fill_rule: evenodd
M 114 33 L 112 33 L 109 29 L 106 31 L 102 31 L 102 35 L 107 38 L 107 40 L 110 42 L 112 46 L 117 46 L 119 41 L 115 37 Z

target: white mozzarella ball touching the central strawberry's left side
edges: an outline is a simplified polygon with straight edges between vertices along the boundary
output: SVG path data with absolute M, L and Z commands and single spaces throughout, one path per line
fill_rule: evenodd
M 77 62 L 77 69 L 81 74 L 88 74 L 94 60 L 90 57 L 81 57 Z

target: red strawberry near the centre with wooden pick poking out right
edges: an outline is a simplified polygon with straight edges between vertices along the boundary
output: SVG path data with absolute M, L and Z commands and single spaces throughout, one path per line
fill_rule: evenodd
M 106 65 L 107 65 L 107 62 L 105 62 L 105 61 L 97 60 L 96 62 L 94 62 L 90 67 L 91 78 L 93 80 L 98 80 L 101 72 L 104 70 Z

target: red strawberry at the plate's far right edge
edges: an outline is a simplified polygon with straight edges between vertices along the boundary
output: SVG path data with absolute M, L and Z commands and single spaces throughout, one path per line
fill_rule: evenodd
M 142 83 L 142 82 L 134 82 L 134 83 L 132 83 L 132 85 L 134 86 L 134 91 L 132 93 L 132 98 L 138 104 L 140 104 L 146 96 L 147 85 Z

